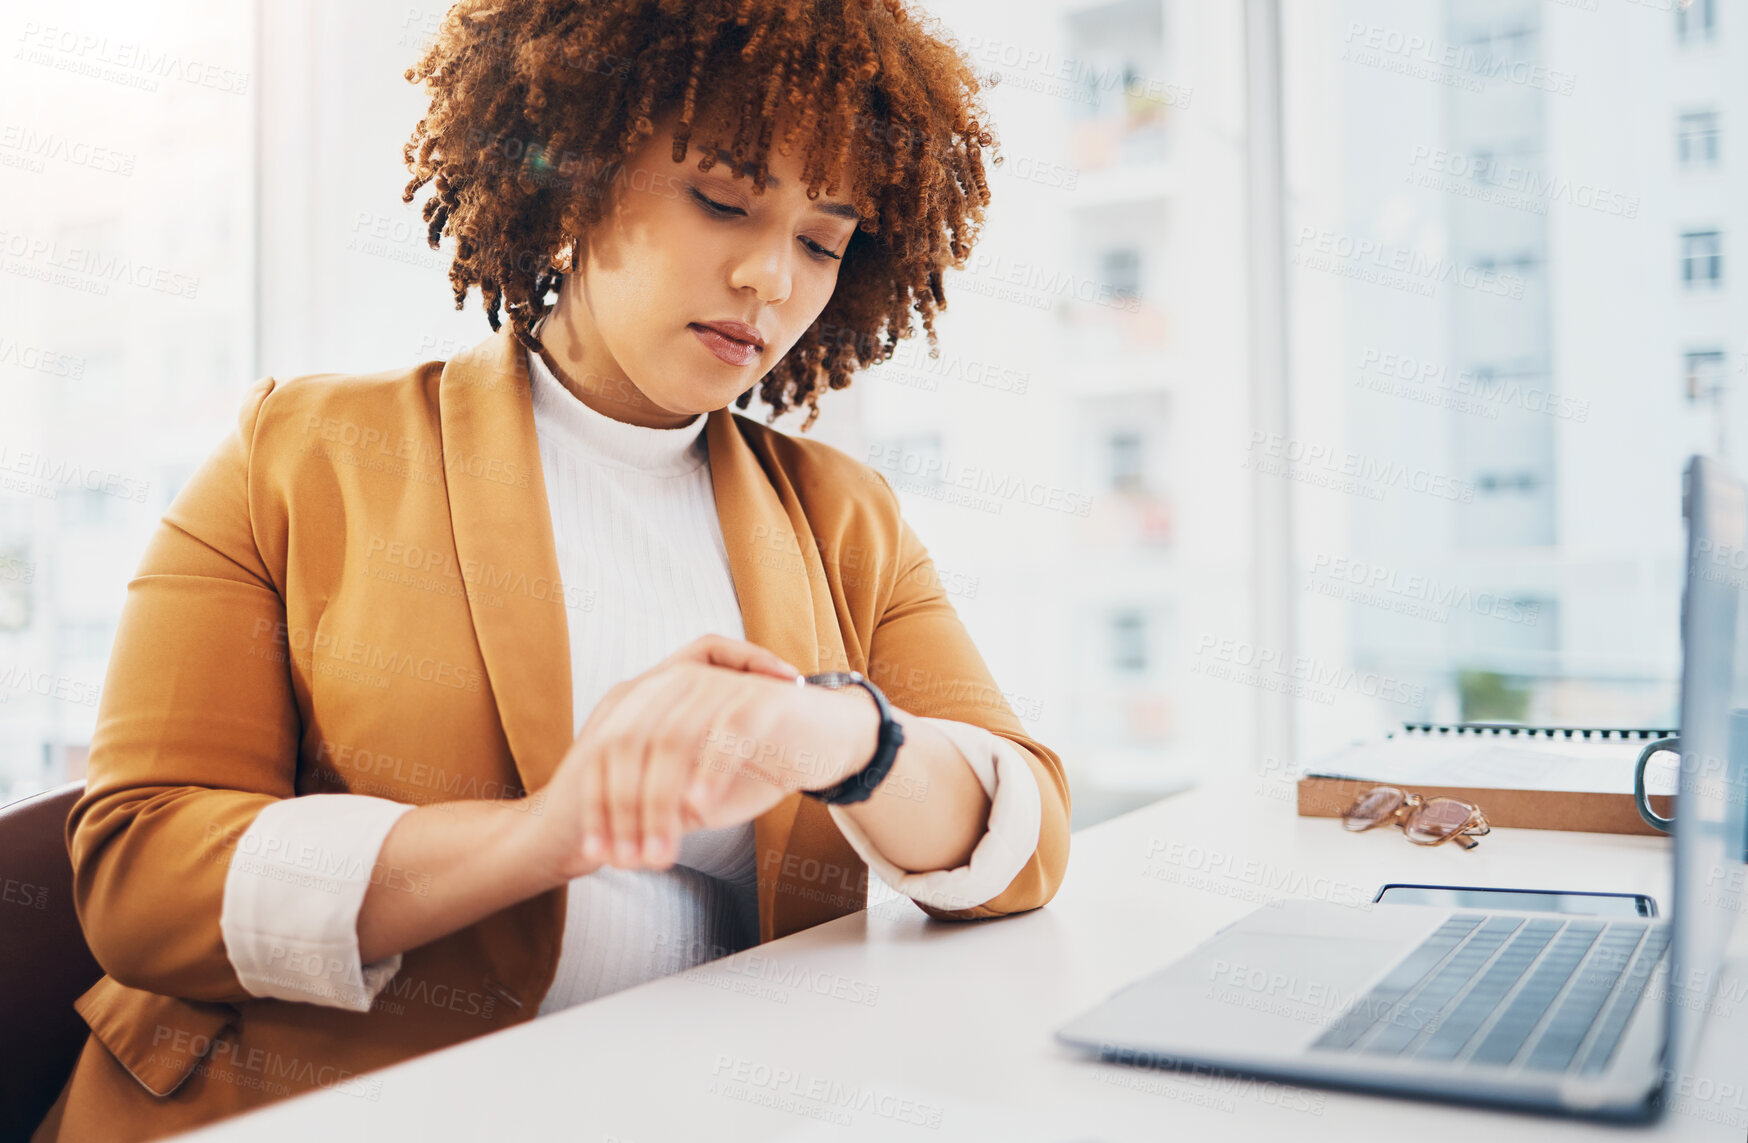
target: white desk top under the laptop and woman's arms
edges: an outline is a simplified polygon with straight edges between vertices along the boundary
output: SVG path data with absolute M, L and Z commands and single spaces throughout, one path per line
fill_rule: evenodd
M 1271 897 L 1384 881 L 1641 891 L 1661 837 L 1495 830 L 1481 848 L 1297 818 L 1234 779 L 1073 839 L 1045 909 L 972 925 L 905 900 L 434 1052 L 189 1140 L 1729 1140 L 1748 1133 L 1748 958 L 1724 977 L 1690 1094 L 1654 1129 L 1138 1071 L 1051 1031 Z M 808 975 L 811 973 L 811 975 Z M 1729 998 L 1736 998 L 1734 1001 Z M 1435 1117 L 1432 1124 L 1428 1117 Z M 930 1127 L 933 1124 L 933 1127 Z M 1470 1134 L 1475 1133 L 1475 1134 Z

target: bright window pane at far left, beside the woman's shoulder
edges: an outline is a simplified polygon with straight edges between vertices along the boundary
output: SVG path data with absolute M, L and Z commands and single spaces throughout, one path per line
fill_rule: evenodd
M 260 9 L 100 0 L 21 31 L 0 68 L 5 154 L 28 161 L 0 164 L 0 199 L 37 250 L 7 266 L 31 283 L 0 329 L 0 437 L 35 458 L 0 488 L 0 671 L 17 678 L 96 690 L 157 474 L 234 435 L 260 376 L 255 124 L 281 122 L 255 114 Z M 0 802 L 79 774 L 96 708 L 66 694 L 0 694 Z

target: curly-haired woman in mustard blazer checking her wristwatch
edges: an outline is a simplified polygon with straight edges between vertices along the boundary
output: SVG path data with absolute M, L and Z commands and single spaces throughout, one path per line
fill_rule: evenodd
M 988 201 L 963 59 L 897 0 L 519 0 L 407 75 L 406 197 L 496 332 L 264 378 L 164 516 L 68 821 L 107 975 L 38 1140 L 379 1098 L 871 869 L 944 919 L 1061 883 L 1061 762 L 890 486 L 729 409 L 811 423 L 911 311 L 933 339 Z

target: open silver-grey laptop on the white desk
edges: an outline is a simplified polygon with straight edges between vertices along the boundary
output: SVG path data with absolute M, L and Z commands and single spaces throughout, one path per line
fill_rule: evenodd
M 1112 1063 L 1655 1117 L 1664 1077 L 1690 1071 L 1739 905 L 1718 886 L 1741 886 L 1748 837 L 1748 493 L 1696 456 L 1682 510 L 1682 767 L 1666 921 L 1274 902 L 1056 1038 Z

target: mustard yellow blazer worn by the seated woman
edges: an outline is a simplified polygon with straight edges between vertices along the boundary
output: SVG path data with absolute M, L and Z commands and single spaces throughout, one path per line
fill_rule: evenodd
M 731 409 L 704 432 L 746 638 L 984 727 L 1037 776 L 1038 844 L 1007 890 L 919 907 L 1044 905 L 1068 863 L 1063 764 L 1003 701 L 890 484 Z M 77 1003 L 91 1036 L 37 1140 L 156 1138 L 535 1017 L 559 890 L 407 951 L 397 982 L 432 1001 L 399 1010 L 248 994 L 218 914 L 236 839 L 276 799 L 538 790 L 573 739 L 563 592 L 507 325 L 449 362 L 250 388 L 128 584 L 66 823 L 107 975 Z M 867 867 L 825 806 L 792 793 L 753 830 L 760 942 L 865 907 Z M 495 1001 L 437 1000 L 458 994 Z

